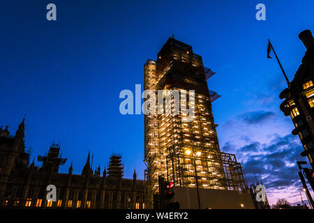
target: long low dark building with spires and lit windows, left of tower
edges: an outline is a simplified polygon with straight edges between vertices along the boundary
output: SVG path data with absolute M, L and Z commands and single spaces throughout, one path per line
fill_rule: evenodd
M 15 136 L 8 127 L 0 128 L 0 207 L 1 208 L 137 208 L 144 207 L 145 180 L 122 178 L 121 156 L 113 155 L 110 165 L 91 169 L 90 154 L 81 175 L 59 173 L 66 159 L 59 155 L 59 144 L 52 144 L 47 155 L 38 155 L 42 167 L 29 165 L 24 146 L 24 120 Z M 57 188 L 57 201 L 47 201 L 47 185 Z

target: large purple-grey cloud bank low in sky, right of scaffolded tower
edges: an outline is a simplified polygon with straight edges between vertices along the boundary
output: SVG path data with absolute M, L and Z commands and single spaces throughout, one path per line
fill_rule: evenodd
M 267 144 L 248 139 L 244 146 L 236 146 L 232 141 L 227 141 L 222 148 L 223 151 L 233 151 L 243 163 L 248 183 L 255 183 L 256 179 L 262 180 L 267 196 L 271 198 L 270 203 L 288 196 L 291 196 L 292 201 L 297 201 L 301 182 L 296 162 L 301 160 L 300 153 L 304 149 L 299 138 L 292 134 L 283 137 L 272 134 L 269 137 L 272 140 Z

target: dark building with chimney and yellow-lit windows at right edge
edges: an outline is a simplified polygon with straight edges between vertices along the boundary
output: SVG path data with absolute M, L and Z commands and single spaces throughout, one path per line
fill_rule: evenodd
M 304 147 L 301 156 L 308 157 L 314 168 L 314 38 L 309 30 L 302 31 L 299 38 L 307 50 L 294 79 L 279 95 L 279 98 L 285 99 L 280 108 L 285 116 L 290 115 L 292 119 L 295 127 L 292 134 L 299 135 Z

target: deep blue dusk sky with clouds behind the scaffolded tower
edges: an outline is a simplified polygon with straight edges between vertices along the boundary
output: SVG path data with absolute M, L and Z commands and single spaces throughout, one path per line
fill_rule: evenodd
M 48 3 L 57 21 L 46 20 Z M 266 21 L 255 19 L 264 3 Z M 120 91 L 144 82 L 143 66 L 172 33 L 217 72 L 209 89 L 220 148 L 235 153 L 248 183 L 262 179 L 270 203 L 299 201 L 295 161 L 303 150 L 279 109 L 285 79 L 267 59 L 271 39 L 291 80 L 314 32 L 314 1 L 6 1 L 0 8 L 0 125 L 11 134 L 26 115 L 31 160 L 60 141 L 61 167 L 80 174 L 89 150 L 94 166 L 121 153 L 125 177 L 144 178 L 144 116 L 119 113 Z M 40 163 L 36 162 L 37 165 Z M 304 195 L 305 197 L 305 195 Z

